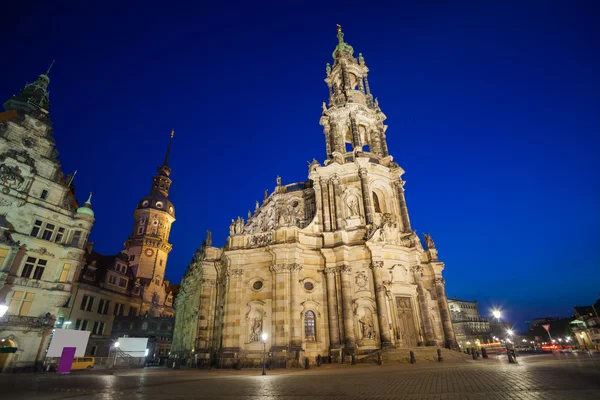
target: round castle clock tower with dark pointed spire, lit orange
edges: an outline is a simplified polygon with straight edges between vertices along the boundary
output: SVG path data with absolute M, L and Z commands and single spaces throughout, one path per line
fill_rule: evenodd
M 148 286 L 162 287 L 167 258 L 171 251 L 169 234 L 171 224 L 175 221 L 175 208 L 168 196 L 171 187 L 169 153 L 173 135 L 174 131 L 171 132 L 165 160 L 152 178 L 150 195 L 140 200 L 133 213 L 133 230 L 125 242 L 125 253 L 129 256 L 135 277 L 144 284 L 148 283 Z M 157 293 L 161 291 L 158 290 Z M 162 301 L 160 303 L 162 304 Z

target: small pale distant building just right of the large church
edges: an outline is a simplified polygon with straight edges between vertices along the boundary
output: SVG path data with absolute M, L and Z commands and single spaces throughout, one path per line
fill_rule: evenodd
M 448 299 L 450 319 L 454 326 L 456 341 L 461 348 L 474 346 L 476 342 L 487 343 L 491 340 L 490 321 L 479 315 L 477 301 Z

